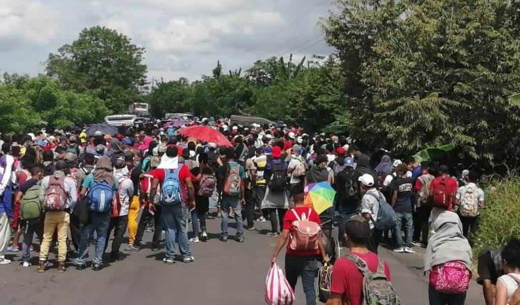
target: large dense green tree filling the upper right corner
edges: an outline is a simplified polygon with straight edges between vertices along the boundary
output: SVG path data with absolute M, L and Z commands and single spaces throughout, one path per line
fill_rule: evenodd
M 519 110 L 507 96 L 520 91 L 520 35 L 510 1 L 337 3 L 324 30 L 356 138 L 396 153 L 454 143 L 485 164 L 518 161 Z

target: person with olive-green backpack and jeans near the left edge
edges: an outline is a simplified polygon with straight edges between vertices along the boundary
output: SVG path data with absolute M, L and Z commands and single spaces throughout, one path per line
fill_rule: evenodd
M 40 180 L 43 170 L 31 168 L 31 179 L 21 184 L 16 193 L 15 202 L 20 204 L 20 219 L 24 227 L 24 242 L 21 245 L 21 260 L 24 267 L 31 266 L 31 245 L 36 233 L 43 239 L 42 204 L 40 203 Z

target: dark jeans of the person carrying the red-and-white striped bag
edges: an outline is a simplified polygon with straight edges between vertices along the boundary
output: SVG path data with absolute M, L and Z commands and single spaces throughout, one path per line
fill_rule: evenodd
M 318 260 L 316 260 L 316 256 L 296 256 L 286 254 L 285 273 L 286 279 L 293 290 L 296 288 L 298 277 L 302 277 L 306 305 L 315 305 L 316 291 L 314 288 L 314 279 L 318 276 Z

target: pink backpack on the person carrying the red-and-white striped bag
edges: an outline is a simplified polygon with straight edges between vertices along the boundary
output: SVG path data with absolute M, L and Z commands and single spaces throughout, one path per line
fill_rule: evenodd
M 309 214 L 302 214 L 302 218 L 298 216 L 295 209 L 291 209 L 291 211 L 297 220 L 293 221 L 289 247 L 295 251 L 318 249 L 318 236 L 320 236 L 322 229 L 318 223 L 309 220 L 309 218 L 311 218 L 312 209 L 309 208 Z

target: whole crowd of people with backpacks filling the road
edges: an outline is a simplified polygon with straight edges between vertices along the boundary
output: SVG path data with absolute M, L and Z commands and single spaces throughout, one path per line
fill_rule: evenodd
M 478 173 L 419 164 L 413 158 L 403 162 L 390 155 L 372 164 L 375 156 L 363 153 L 350 139 L 306 134 L 301 128 L 241 126 L 225 120 L 214 128 L 232 147 L 187 138 L 173 127 L 154 123 L 123 127 L 117 134 L 74 128 L 4 137 L 0 265 L 10 263 L 6 251 L 21 251 L 22 265 L 30 267 L 37 235 L 37 272 L 51 265 L 49 250 L 55 244 L 58 272 L 67 269 L 67 259 L 78 270 L 85 269 L 90 243 L 95 243 L 92 269 L 101 270 L 112 232 L 110 260 L 117 261 L 125 234 L 128 245 L 123 250 L 137 251 L 150 227 L 153 250 L 161 248 L 166 232 L 164 263 L 191 263 L 195 259 L 190 244 L 208 240 L 206 220 L 214 205 L 221 216 L 223 242 L 229 239 L 230 219 L 236 222 L 234 239 L 239 243 L 255 222 L 270 222 L 267 235 L 279 238 L 271 263 L 286 246 L 286 278 L 293 289 L 302 278 L 306 304 L 316 302 L 321 263 L 333 263 L 327 304 L 367 304 L 367 298 L 375 296 L 363 290 L 370 284 L 366 275 L 379 272 L 388 283 L 391 279 L 388 265 L 377 256 L 381 243 L 403 255 L 425 247 L 430 304 L 464 304 L 471 245 L 479 209 L 485 207 Z M 305 203 L 305 193 L 309 184 L 320 182 L 333 186 L 336 197 L 331 208 L 318 214 Z M 388 223 L 385 218 L 394 225 L 382 226 L 383 220 Z M 334 256 L 333 224 L 349 256 Z M 314 233 L 299 237 L 298 226 Z M 321 231 L 324 235 L 318 234 Z M 516 304 L 510 298 L 520 283 L 519 258 L 518 240 L 479 256 L 478 282 L 487 304 Z M 455 277 L 457 285 L 449 285 Z M 395 302 L 388 304 L 397 304 L 391 286 L 383 289 L 379 297 L 387 295 Z

